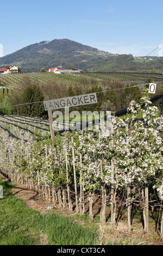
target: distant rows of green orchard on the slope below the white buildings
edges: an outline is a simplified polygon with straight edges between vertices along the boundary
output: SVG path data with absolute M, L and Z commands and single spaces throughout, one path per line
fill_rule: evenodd
M 134 72 L 96 72 L 84 74 L 54 74 L 46 73 L 27 73 L 27 74 L 8 74 L 0 75 L 0 82 L 4 86 L 14 88 L 19 87 L 24 80 L 30 80 L 33 83 L 47 84 L 56 82 L 59 84 L 87 86 L 89 84 L 98 84 L 106 86 L 110 81 L 119 80 L 124 84 L 132 82 L 145 83 L 147 78 L 151 77 L 153 82 L 162 81 L 162 74 L 152 73 L 134 73 Z

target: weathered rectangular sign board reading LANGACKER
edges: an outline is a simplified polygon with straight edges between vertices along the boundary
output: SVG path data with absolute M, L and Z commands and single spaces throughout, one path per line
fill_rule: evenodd
M 94 103 L 97 103 L 96 93 L 43 101 L 45 110 L 59 109 L 65 107 L 76 107 Z

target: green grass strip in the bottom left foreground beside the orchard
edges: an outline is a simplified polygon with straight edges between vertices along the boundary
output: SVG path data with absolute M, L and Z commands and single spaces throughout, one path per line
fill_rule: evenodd
M 0 185 L 4 193 L 0 199 L 0 245 L 40 245 L 40 234 L 46 235 L 47 245 L 97 245 L 98 234 L 94 230 L 83 228 L 68 217 L 31 210 L 10 194 L 13 184 L 0 180 Z

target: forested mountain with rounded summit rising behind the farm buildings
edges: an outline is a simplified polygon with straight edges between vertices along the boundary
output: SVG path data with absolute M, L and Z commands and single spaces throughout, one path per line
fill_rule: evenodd
M 163 70 L 163 57 L 135 59 L 131 54 L 112 54 L 99 51 L 97 48 L 79 44 L 68 39 L 55 39 L 32 44 L 0 58 L 0 66 L 21 66 L 24 72 L 37 72 L 41 68 L 67 66 L 88 69 L 89 71 L 144 71 Z

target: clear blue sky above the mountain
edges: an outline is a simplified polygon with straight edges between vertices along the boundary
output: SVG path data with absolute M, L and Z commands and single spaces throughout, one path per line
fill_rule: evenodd
M 2 1 L 0 55 L 67 38 L 99 50 L 146 56 L 163 44 L 163 1 Z M 162 48 L 151 55 L 159 56 Z

